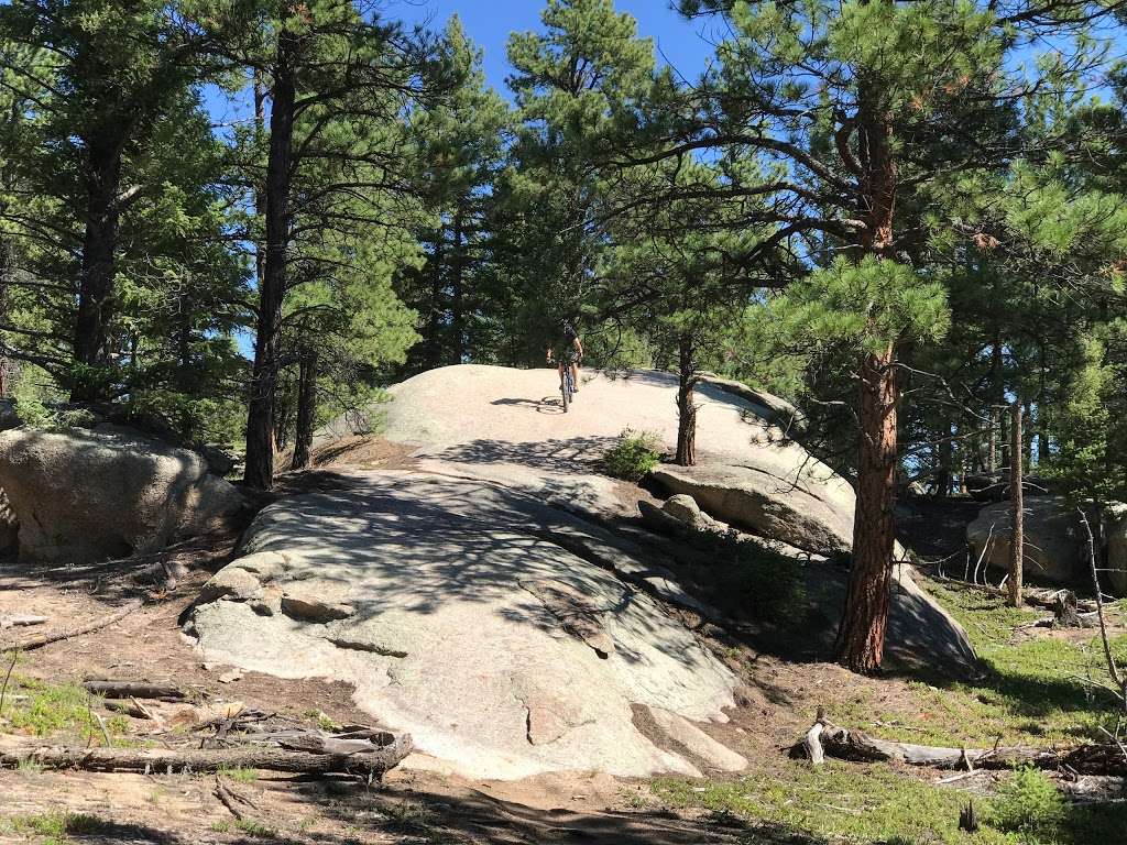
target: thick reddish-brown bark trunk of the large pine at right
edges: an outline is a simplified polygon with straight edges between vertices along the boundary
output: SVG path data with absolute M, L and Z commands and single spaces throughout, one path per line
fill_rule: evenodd
M 897 169 L 891 118 L 879 88 L 862 79 L 858 87 L 867 226 L 861 251 L 891 258 Z M 896 344 L 879 355 L 863 355 L 859 370 L 860 424 L 853 566 L 837 630 L 837 658 L 853 671 L 880 669 L 888 625 L 888 598 L 896 534 L 896 415 L 899 383 Z

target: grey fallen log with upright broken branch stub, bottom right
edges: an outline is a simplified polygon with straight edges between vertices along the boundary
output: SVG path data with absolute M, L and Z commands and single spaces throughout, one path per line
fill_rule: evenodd
M 817 760 L 819 754 L 844 760 L 866 763 L 904 763 L 909 766 L 974 771 L 976 768 L 1013 768 L 1033 765 L 1038 768 L 1067 768 L 1082 775 L 1127 775 L 1127 754 L 1118 745 L 1092 742 L 1073 748 L 1036 748 L 1000 746 L 996 748 L 944 748 L 878 739 L 864 731 L 840 728 L 827 721 L 816 722 L 795 746 L 796 756 Z M 813 748 L 811 746 L 817 746 Z

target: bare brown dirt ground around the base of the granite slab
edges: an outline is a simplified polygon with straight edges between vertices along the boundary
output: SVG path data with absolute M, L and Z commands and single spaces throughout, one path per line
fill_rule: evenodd
M 331 487 L 331 475 L 291 479 L 284 490 Z M 205 666 L 178 619 L 204 580 L 231 557 L 237 534 L 180 544 L 160 555 L 86 568 L 29 569 L 0 566 L 0 617 L 35 614 L 50 622 L 0 633 L 0 650 L 14 639 L 73 629 L 104 619 L 123 603 L 145 604 L 121 622 L 21 655 L 18 671 L 52 684 L 90 677 L 171 682 L 208 702 L 243 702 L 313 724 L 325 713 L 338 723 L 371 723 L 350 700 L 350 688 L 316 679 L 283 681 L 256 673 L 231 678 L 231 667 Z M 187 570 L 175 589 L 140 587 L 135 576 L 154 560 Z M 687 620 L 696 623 L 695 620 Z M 710 633 L 699 625 L 701 635 Z M 16 632 L 19 632 L 18 634 Z M 713 632 L 718 633 L 718 632 Z M 731 721 L 716 726 L 721 741 L 757 767 L 787 765 L 783 748 L 809 723 L 819 693 L 843 684 L 869 684 L 832 665 L 791 665 L 713 642 L 746 678 Z M 5 667 L 6 668 L 6 667 Z M 890 703 L 894 706 L 895 703 Z M 886 708 L 887 709 L 887 708 Z M 108 715 L 108 713 L 107 713 Z M 130 719 L 143 739 L 151 722 Z M 0 721 L 0 735 L 3 722 Z M 0 736 L 0 741 L 28 741 Z M 44 740 L 46 741 L 46 740 Z M 683 749 L 681 749 L 683 751 Z M 410 759 L 370 788 L 345 779 L 303 779 L 261 773 L 231 782 L 246 797 L 240 828 L 215 795 L 211 775 L 132 775 L 87 772 L 0 771 L 0 818 L 62 810 L 103 820 L 88 842 L 202 843 L 273 838 L 294 843 L 751 843 L 777 839 L 728 817 L 654 807 L 645 784 L 606 775 L 542 775 L 518 782 L 471 782 L 436 762 Z M 432 767 L 433 771 L 428 771 Z M 417 766 L 417 767 L 416 767 Z M 2 830 L 2 828 L 0 828 Z M 26 842 L 24 835 L 0 842 Z

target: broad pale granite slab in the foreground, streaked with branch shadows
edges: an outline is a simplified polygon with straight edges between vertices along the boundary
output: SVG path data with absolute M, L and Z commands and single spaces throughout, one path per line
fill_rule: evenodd
M 373 719 L 467 776 L 738 767 L 684 723 L 725 721 L 735 676 L 619 576 L 621 537 L 477 481 L 349 478 L 256 517 L 190 614 L 204 659 L 352 684 Z M 635 566 L 636 581 L 654 573 Z M 692 733 L 710 754 L 665 750 L 636 705 L 669 714 L 669 746 Z

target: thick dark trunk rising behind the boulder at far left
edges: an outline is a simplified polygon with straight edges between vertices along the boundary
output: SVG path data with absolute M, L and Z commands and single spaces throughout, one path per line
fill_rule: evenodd
M 86 174 L 86 231 L 78 315 L 74 321 L 72 402 L 97 402 L 105 398 L 106 329 L 113 309 L 115 258 L 121 213 L 122 155 L 116 143 L 90 143 Z

